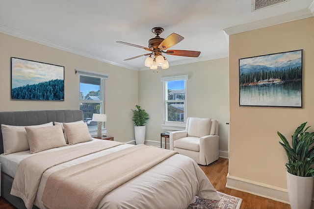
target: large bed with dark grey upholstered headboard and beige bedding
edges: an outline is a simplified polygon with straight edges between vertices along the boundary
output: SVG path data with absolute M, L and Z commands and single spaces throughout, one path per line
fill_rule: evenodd
M 100 139 L 79 141 L 72 145 L 73 139 L 70 131 L 73 127 L 82 127 L 84 124 L 83 122 L 72 124 L 72 122 L 81 120 L 83 120 L 83 114 L 79 110 L 0 112 L 0 124 L 8 126 L 33 126 L 50 124 L 51 122 L 62 123 L 66 133 L 68 133 L 68 138 L 65 140 L 68 144 L 71 144 L 51 149 L 44 148 L 43 150 L 41 150 L 41 145 L 39 144 L 37 151 L 35 150 L 34 154 L 30 154 L 33 150 L 32 147 L 34 146 L 31 145 L 33 142 L 29 141 L 30 151 L 24 150 L 4 155 L 3 152 L 4 150 L 7 150 L 8 145 L 6 144 L 6 148 L 3 149 L 1 132 L 1 196 L 19 209 L 31 207 L 43 209 L 48 207 L 78 208 L 75 204 L 78 204 L 81 199 L 82 201 L 85 201 L 85 199 L 87 199 L 86 201 L 89 201 L 94 197 L 95 199 L 98 198 L 96 200 L 96 205 L 95 202 L 93 202 L 94 205 L 88 205 L 88 207 L 84 206 L 82 208 L 184 209 L 195 201 L 196 195 L 206 199 L 219 200 L 216 190 L 210 184 L 206 175 L 199 168 L 197 163 L 186 156 L 170 153 L 171 151 L 169 150 L 149 147 L 146 145 L 134 146 L 131 144 Z M 56 127 L 58 127 L 58 129 L 56 129 Z M 57 130 L 55 133 L 59 133 L 58 125 L 40 129 L 52 130 L 52 128 Z M 40 129 L 37 127 L 27 127 L 26 132 L 28 140 L 32 138 L 33 135 L 37 136 L 39 133 L 38 130 Z M 50 135 L 46 134 L 45 136 Z M 75 136 L 75 133 L 73 136 Z M 53 135 L 53 137 L 55 136 Z M 53 137 L 51 138 L 53 139 L 51 141 L 57 141 L 61 138 Z M 76 135 L 75 139 L 78 139 L 79 137 Z M 97 150 L 94 150 L 95 147 L 97 147 Z M 160 154 L 158 154 L 159 151 Z M 74 153 L 73 156 L 72 154 L 68 154 L 72 152 Z M 60 158 L 61 160 L 58 160 L 57 156 L 63 156 L 61 153 L 67 153 L 64 155 L 67 158 L 66 160 L 64 157 Z M 146 163 L 141 162 L 143 158 L 142 156 L 145 156 L 145 153 L 147 157 L 144 157 L 143 161 L 147 158 L 147 161 L 149 161 L 150 164 L 147 166 Z M 154 157 L 155 153 L 156 156 Z M 159 156 L 162 156 L 161 159 L 158 159 Z M 37 180 L 28 180 L 27 175 L 29 178 L 35 178 L 34 176 L 37 174 L 33 175 L 33 173 L 34 170 L 37 171 L 38 169 L 37 167 L 36 169 L 33 169 L 33 164 L 35 163 L 37 166 L 41 161 L 43 162 L 40 166 L 46 167 L 43 167 L 42 173 L 38 174 L 40 177 L 37 184 L 34 183 Z M 62 161 L 62 163 L 58 161 Z M 135 165 L 132 164 L 133 162 Z M 32 166 L 29 166 L 28 163 L 32 164 Z M 49 163 L 51 163 L 51 165 Z M 120 165 L 119 163 L 122 164 Z M 142 169 L 141 167 L 144 167 L 143 170 L 140 170 Z M 84 172 L 81 170 L 84 170 Z M 88 172 L 92 172 L 92 174 Z M 73 181 L 72 179 L 68 179 L 68 176 L 73 176 L 74 173 L 77 174 L 75 177 L 76 179 L 74 178 Z M 87 180 L 81 180 L 83 177 L 86 178 L 86 175 L 89 175 L 89 178 Z M 23 178 L 21 178 L 21 176 L 23 176 Z M 102 178 L 104 178 L 104 180 Z M 117 180 L 115 180 L 115 178 Z M 23 181 L 25 182 L 20 183 L 18 179 L 19 181 L 24 179 Z M 61 182 L 62 179 L 65 181 Z M 89 181 L 91 181 L 91 183 Z M 102 184 L 99 184 L 100 182 Z M 20 186 L 20 184 L 23 186 Z M 94 184 L 97 187 L 85 187 Z M 17 187 L 26 187 L 27 189 L 28 187 L 35 188 L 34 200 L 31 201 L 31 204 L 28 202 L 25 204 L 21 198 L 11 195 L 11 190 L 14 193 Z M 56 189 L 58 192 L 53 192 L 53 189 Z M 71 190 L 74 192 L 69 192 L 71 194 L 68 195 L 66 192 L 68 192 L 69 189 L 79 190 Z M 102 192 L 104 193 L 102 194 Z M 25 193 L 28 194 L 28 191 Z M 53 198 L 61 199 L 54 200 L 52 196 Z M 64 196 L 66 196 L 66 198 L 62 199 Z

